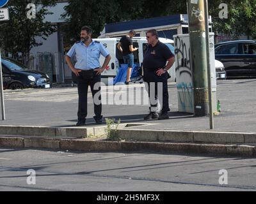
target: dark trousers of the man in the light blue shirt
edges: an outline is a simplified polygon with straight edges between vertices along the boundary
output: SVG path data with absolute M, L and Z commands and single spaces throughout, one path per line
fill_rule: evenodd
M 79 77 L 77 77 L 77 89 L 79 95 L 79 105 L 78 105 L 78 119 L 84 119 L 87 117 L 87 95 L 88 95 L 88 87 L 90 85 L 93 103 L 94 103 L 94 113 L 95 119 L 102 119 L 102 104 L 101 104 L 101 96 L 100 96 L 100 87 L 98 90 L 94 90 L 93 87 L 97 82 L 100 82 L 100 75 L 97 75 L 95 71 L 82 71 L 79 73 Z M 97 98 L 95 98 L 95 94 L 97 94 Z M 99 97 L 98 97 L 99 96 Z M 95 101 L 97 99 L 97 101 Z M 99 104 L 100 101 L 100 104 Z M 95 103 L 96 102 L 96 103 Z

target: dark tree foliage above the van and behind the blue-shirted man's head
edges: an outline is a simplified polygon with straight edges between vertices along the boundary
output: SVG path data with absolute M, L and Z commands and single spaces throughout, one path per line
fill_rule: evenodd
M 63 26 L 63 31 L 65 41 L 70 43 L 80 39 L 79 33 L 83 25 L 90 25 L 97 38 L 104 24 L 176 14 L 186 11 L 186 0 L 70 0 L 65 10 L 63 18 L 67 20 L 67 24 Z

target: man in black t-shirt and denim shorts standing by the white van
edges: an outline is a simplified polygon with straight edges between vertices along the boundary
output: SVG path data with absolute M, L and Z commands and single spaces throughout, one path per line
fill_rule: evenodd
M 132 38 L 136 35 L 135 31 L 131 30 L 127 36 L 124 36 L 119 41 L 117 48 L 122 52 L 124 58 L 124 64 L 128 64 L 127 78 L 125 84 L 131 82 L 131 72 L 134 64 L 134 55 L 132 52 L 138 50 L 133 47 Z

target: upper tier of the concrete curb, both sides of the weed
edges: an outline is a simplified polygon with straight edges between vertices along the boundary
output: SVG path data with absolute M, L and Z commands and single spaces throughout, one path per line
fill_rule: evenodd
M 113 134 L 126 141 L 137 142 L 179 142 L 179 143 L 209 143 L 209 144 L 255 144 L 256 133 L 237 133 L 220 131 L 172 131 L 132 129 L 136 124 L 121 124 L 120 128 L 112 129 Z M 145 126 L 145 124 L 140 124 Z M 128 128 L 127 128 L 128 127 Z M 91 138 L 105 136 L 105 126 L 81 128 L 51 128 L 33 126 L 0 126 L 0 135 L 40 136 L 61 138 Z

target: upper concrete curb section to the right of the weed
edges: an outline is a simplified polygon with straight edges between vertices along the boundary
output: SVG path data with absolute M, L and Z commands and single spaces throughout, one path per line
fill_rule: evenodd
M 116 136 L 122 140 L 189 142 L 215 144 L 256 143 L 256 133 L 217 131 L 170 131 L 148 129 L 117 129 Z

